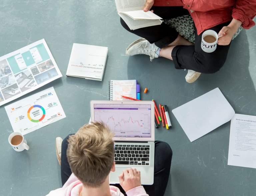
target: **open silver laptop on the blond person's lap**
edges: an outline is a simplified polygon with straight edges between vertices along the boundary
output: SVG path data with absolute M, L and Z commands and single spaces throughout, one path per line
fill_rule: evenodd
M 103 121 L 114 132 L 115 172 L 110 184 L 119 184 L 124 169 L 141 172 L 141 184 L 154 182 L 154 102 L 153 101 L 91 101 L 91 121 Z

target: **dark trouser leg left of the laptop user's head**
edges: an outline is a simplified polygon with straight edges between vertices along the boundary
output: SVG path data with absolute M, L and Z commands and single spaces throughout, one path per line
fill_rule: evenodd
M 62 144 L 61 144 L 60 174 L 61 174 L 62 186 L 67 182 L 68 178 L 72 174 L 72 171 L 71 171 L 69 163 L 68 163 L 68 158 L 67 158 L 67 149 L 68 149 L 68 141 L 67 141 L 67 139 L 69 138 L 70 135 L 74 135 L 74 134 L 69 134 L 62 141 Z

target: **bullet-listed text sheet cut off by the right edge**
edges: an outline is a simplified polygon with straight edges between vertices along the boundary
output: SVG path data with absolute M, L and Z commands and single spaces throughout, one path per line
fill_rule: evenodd
M 228 165 L 256 168 L 256 116 L 235 114 L 231 119 Z

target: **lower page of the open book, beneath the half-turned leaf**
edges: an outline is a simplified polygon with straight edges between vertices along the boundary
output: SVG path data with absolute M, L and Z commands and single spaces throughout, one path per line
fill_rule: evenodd
M 154 25 L 160 25 L 162 23 L 161 20 L 133 20 L 130 16 L 126 14 L 123 14 L 123 13 L 118 13 L 118 14 L 131 30 L 154 26 Z

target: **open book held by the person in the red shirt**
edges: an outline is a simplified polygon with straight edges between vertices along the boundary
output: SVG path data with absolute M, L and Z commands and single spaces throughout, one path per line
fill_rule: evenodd
M 144 12 L 146 0 L 115 0 L 119 16 L 131 30 L 160 25 L 159 16 L 151 11 Z

